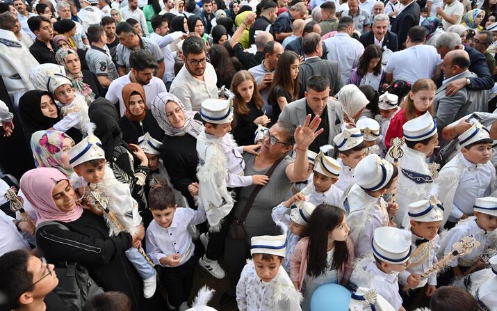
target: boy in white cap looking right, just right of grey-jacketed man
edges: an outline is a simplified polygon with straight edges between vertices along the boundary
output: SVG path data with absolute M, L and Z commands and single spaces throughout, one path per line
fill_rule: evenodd
M 341 191 L 347 193 L 348 188 L 354 184 L 354 168 L 359 161 L 366 156 L 366 145 L 361 130 L 357 128 L 344 129 L 340 134 L 333 138 L 335 149 L 338 150 L 339 156 L 337 161 L 342 169 L 340 178 L 335 186 Z

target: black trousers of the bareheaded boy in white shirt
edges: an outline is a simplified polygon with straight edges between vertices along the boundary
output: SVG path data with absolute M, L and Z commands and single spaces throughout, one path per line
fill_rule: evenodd
M 174 268 L 161 266 L 161 281 L 168 292 L 169 304 L 174 308 L 178 308 L 181 303 L 190 298 L 196 262 L 195 256 L 192 256 L 181 266 Z

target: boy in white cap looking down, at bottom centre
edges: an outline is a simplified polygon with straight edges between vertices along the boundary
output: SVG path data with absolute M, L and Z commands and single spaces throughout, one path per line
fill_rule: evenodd
M 236 285 L 240 311 L 301 311 L 302 294 L 282 267 L 286 234 L 250 239 L 250 255 Z

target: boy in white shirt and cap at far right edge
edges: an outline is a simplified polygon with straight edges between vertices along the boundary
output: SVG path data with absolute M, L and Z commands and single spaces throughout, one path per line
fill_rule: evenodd
M 473 214 L 476 198 L 489 196 L 496 170 L 491 164 L 489 131 L 475 122 L 459 135 L 460 152 L 440 170 L 437 178 L 439 198 L 446 209 L 446 228 Z M 450 213 L 450 214 L 449 214 Z

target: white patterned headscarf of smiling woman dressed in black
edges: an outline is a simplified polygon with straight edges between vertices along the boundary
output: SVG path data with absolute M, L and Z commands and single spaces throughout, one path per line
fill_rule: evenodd
M 179 108 L 181 108 L 185 115 L 185 124 L 181 127 L 181 129 L 173 127 L 171 122 L 169 122 L 168 116 L 165 114 L 165 105 L 168 104 L 168 102 L 175 102 L 178 104 Z M 152 100 L 152 104 L 150 104 L 150 110 L 152 111 L 154 118 L 157 120 L 158 126 L 160 126 L 168 136 L 190 134 L 191 136 L 197 138 L 204 127 L 202 122 L 193 118 L 195 113 L 197 113 L 196 111 L 186 110 L 181 100 L 168 92 L 156 95 L 156 97 Z

